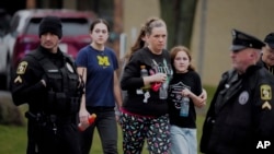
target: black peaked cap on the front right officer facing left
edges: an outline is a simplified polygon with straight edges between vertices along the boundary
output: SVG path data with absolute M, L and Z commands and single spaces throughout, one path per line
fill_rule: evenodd
M 240 51 L 246 48 L 262 49 L 265 45 L 262 40 L 256 37 L 240 32 L 238 29 L 232 29 L 232 45 L 230 47 L 231 51 Z

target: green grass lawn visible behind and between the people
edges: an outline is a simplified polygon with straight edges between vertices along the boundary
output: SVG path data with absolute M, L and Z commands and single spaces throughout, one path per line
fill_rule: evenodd
M 206 110 L 212 100 L 215 87 L 205 86 L 205 90 L 208 94 L 207 106 L 204 109 L 197 111 L 197 141 L 202 135 L 202 127 L 205 119 Z M 119 128 L 119 127 L 118 127 Z M 122 132 L 118 129 L 118 153 L 122 154 Z M 146 147 L 146 145 L 145 145 Z M 0 125 L 0 154 L 23 154 L 26 149 L 26 127 L 16 127 L 16 126 L 1 126 Z M 102 153 L 102 146 L 98 132 L 95 131 L 93 145 L 90 154 L 100 154 Z M 148 151 L 144 149 L 142 154 L 148 154 Z

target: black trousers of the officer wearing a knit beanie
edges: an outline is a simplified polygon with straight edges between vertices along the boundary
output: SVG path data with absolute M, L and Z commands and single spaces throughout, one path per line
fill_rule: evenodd
M 79 131 L 73 123 L 50 126 L 28 121 L 26 154 L 80 154 Z

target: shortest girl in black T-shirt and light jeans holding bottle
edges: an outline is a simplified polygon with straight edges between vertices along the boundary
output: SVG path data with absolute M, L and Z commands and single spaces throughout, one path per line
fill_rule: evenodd
M 171 154 L 197 154 L 195 107 L 203 107 L 205 99 L 201 78 L 191 64 L 192 57 L 184 46 L 170 51 L 173 78 L 169 85 L 169 118 Z M 206 93 L 206 92 L 204 92 Z

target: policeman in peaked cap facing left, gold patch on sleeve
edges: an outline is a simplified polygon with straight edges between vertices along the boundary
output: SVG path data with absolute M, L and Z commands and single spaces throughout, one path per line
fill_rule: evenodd
M 232 70 L 222 74 L 203 127 L 206 154 L 274 154 L 274 76 L 258 64 L 264 44 L 232 31 Z

